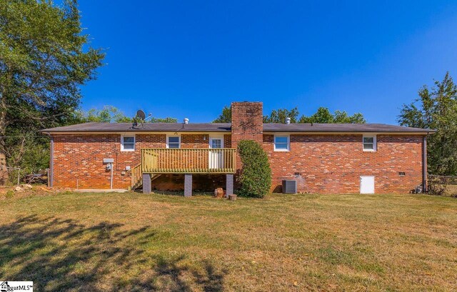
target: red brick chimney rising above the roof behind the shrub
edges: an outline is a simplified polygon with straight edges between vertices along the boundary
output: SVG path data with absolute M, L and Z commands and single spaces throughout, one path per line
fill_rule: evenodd
M 263 141 L 263 104 L 261 102 L 231 103 L 231 146 L 241 140 Z

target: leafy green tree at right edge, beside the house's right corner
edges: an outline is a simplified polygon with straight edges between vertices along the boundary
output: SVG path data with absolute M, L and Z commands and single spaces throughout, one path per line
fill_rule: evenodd
M 412 104 L 403 105 L 398 123 L 423 129 L 436 129 L 428 137 L 428 172 L 457 175 L 457 86 L 449 72 L 443 81 L 424 85 Z

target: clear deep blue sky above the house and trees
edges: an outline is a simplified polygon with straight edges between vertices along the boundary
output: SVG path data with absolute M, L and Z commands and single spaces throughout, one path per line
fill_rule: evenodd
M 396 124 L 423 84 L 457 79 L 457 1 L 373 2 L 80 0 L 106 51 L 82 108 L 206 122 L 263 101 L 264 114 L 326 106 Z

